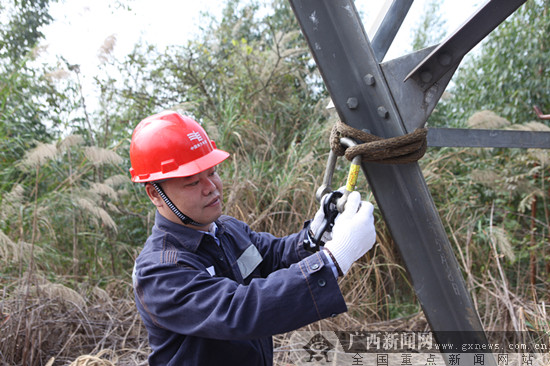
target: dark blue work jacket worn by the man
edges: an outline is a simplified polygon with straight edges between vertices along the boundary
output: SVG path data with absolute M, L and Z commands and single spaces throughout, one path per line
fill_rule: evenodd
M 158 212 L 134 268 L 151 365 L 272 365 L 271 336 L 347 310 L 320 253 L 222 216 L 214 236 Z

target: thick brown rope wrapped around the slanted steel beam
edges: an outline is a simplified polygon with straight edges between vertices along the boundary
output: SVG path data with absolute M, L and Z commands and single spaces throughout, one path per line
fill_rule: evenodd
M 418 128 L 403 136 L 382 138 L 355 129 L 338 121 L 330 134 L 330 146 L 338 156 L 353 160 L 357 155 L 362 161 L 381 164 L 407 164 L 420 160 L 426 152 L 426 135 L 428 129 Z M 342 137 L 363 141 L 357 146 L 348 147 L 340 144 Z

